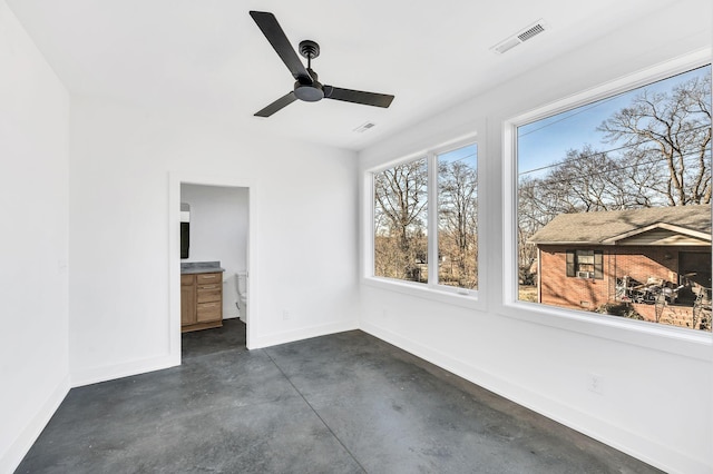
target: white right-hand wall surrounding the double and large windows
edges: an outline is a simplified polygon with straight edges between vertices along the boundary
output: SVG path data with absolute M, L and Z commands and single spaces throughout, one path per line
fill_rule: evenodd
M 677 2 L 360 154 L 365 170 L 477 131 L 482 246 L 476 309 L 363 280 L 361 327 L 668 472 L 712 472 L 711 335 L 645 324 L 622 327 L 600 318 L 506 304 L 514 284 L 504 270 L 511 254 L 504 233 L 509 196 L 501 185 L 508 159 L 505 120 L 696 48 L 710 48 L 711 9 L 707 0 Z M 536 53 L 536 43 L 510 53 Z M 710 61 L 710 52 L 704 57 Z M 364 192 L 361 203 L 365 211 L 371 197 Z M 369 226 L 364 219 L 363 239 Z M 589 373 L 603 377 L 602 395 L 587 389 Z

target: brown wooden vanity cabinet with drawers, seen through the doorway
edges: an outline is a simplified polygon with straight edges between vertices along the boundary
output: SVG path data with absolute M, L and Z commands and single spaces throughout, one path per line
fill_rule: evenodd
M 223 326 L 223 275 L 180 275 L 180 332 Z

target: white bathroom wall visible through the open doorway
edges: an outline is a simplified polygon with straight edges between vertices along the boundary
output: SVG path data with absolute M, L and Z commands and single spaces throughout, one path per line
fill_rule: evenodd
M 191 249 L 180 261 L 219 260 L 223 318 L 238 317 L 235 275 L 247 269 L 248 189 L 182 184 L 180 201 L 191 205 Z

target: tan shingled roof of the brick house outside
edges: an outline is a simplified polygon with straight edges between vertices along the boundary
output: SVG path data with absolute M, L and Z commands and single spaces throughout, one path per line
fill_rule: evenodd
M 675 206 L 598 213 L 560 214 L 529 244 L 614 244 L 613 239 L 655 226 L 711 235 L 711 206 Z

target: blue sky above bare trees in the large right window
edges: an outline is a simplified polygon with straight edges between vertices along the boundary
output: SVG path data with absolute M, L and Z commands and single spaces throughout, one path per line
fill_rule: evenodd
M 518 172 L 520 175 L 553 165 L 565 158 L 570 149 L 580 149 L 590 145 L 597 150 L 607 150 L 612 145 L 603 141 L 603 134 L 596 128 L 609 116 L 631 103 L 643 89 L 656 92 L 670 91 L 674 86 L 685 82 L 695 76 L 711 73 L 710 67 L 655 82 L 644 88 L 634 89 L 618 96 L 588 103 L 531 124 L 518 127 Z M 538 177 L 546 172 L 529 172 Z

